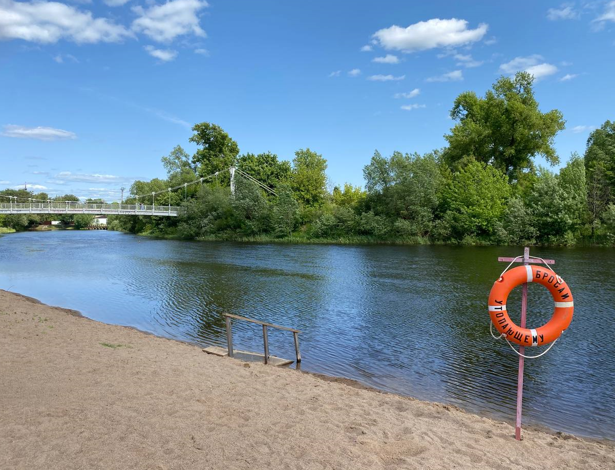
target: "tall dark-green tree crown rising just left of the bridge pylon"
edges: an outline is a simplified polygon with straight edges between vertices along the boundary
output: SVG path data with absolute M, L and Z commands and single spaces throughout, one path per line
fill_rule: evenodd
M 235 166 L 239 146 L 219 125 L 201 122 L 192 130 L 194 135 L 190 141 L 202 146 L 192 156 L 192 164 L 200 177 Z

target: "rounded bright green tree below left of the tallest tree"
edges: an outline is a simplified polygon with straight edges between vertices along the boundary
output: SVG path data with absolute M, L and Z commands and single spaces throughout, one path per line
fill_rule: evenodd
M 461 239 L 491 234 L 509 195 L 504 173 L 484 162 L 466 159 L 443 188 L 445 219 L 453 236 Z

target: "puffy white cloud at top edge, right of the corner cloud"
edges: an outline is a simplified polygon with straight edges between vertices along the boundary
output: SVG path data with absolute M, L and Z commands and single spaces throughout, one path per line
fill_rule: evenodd
M 169 42 L 183 34 L 205 37 L 199 26 L 199 10 L 207 7 L 204 0 L 170 0 L 148 9 L 132 7 L 139 17 L 132 22 L 132 29 L 158 42 Z

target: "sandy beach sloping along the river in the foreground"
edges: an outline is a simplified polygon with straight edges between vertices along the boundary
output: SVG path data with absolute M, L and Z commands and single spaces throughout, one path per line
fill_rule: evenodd
M 454 407 L 209 356 L 0 290 L 2 470 L 615 469 L 611 442 L 513 435 Z

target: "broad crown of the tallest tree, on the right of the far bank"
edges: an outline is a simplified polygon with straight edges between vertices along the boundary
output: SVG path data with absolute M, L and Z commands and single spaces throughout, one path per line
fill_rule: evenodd
M 464 157 L 474 157 L 493 164 L 510 181 L 525 171 L 533 172 L 536 155 L 557 164 L 553 141 L 565 121 L 558 110 L 539 110 L 533 81 L 531 74 L 518 72 L 512 79 L 498 79 L 484 98 L 474 92 L 459 95 L 450 112 L 459 122 L 444 136 L 449 144 L 443 152 L 445 161 L 453 165 Z

